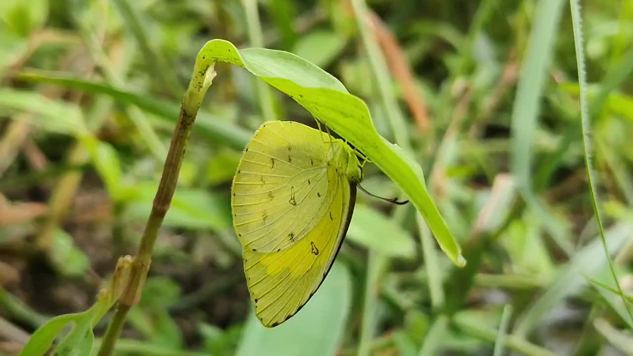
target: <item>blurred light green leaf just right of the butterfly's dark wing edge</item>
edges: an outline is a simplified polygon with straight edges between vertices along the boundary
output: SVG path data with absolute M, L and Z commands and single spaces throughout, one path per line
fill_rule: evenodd
M 389 232 L 385 236 L 385 232 Z M 360 245 L 393 257 L 413 258 L 415 243 L 408 231 L 383 213 L 364 204 L 356 204 L 349 224 L 348 238 Z

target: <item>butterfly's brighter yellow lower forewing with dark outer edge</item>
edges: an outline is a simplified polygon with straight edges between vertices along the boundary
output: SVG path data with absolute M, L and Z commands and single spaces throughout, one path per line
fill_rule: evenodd
M 277 326 L 296 314 L 334 263 L 354 211 L 356 185 L 339 175 L 330 194 L 327 214 L 294 245 L 271 253 L 244 249 L 248 288 L 264 326 Z

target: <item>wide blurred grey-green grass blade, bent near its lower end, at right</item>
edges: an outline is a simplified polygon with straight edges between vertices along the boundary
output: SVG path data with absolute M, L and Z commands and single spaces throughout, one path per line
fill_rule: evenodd
M 544 226 L 560 248 L 568 255 L 573 245 L 568 241 L 566 226 L 532 190 L 532 144 L 536 135 L 542 92 L 553 54 L 556 29 L 563 9 L 562 0 L 541 0 L 534 14 L 534 25 L 518 80 L 517 96 L 512 110 L 512 172 L 525 203 L 544 222 Z

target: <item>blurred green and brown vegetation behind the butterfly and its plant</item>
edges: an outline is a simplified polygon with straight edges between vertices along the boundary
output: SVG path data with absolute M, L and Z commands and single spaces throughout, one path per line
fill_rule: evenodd
M 600 205 L 630 294 L 633 1 L 583 3 Z M 88 308 L 134 253 L 197 51 L 222 38 L 332 73 L 392 141 L 389 117 L 404 117 L 468 265 L 449 262 L 412 207 L 360 194 L 319 293 L 261 327 L 230 181 L 264 120 L 314 122 L 217 65 L 117 354 L 633 355 L 587 189 L 569 4 L 368 7 L 359 30 L 346 0 L 1 1 L 0 354 L 51 316 Z M 368 190 L 398 194 L 377 168 L 365 174 Z

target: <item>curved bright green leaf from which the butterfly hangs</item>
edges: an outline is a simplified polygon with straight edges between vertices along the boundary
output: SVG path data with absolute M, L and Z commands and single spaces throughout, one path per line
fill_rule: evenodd
M 249 48 L 238 51 L 230 42 L 207 42 L 198 53 L 190 89 L 208 80 L 207 72 L 216 61 L 246 68 L 261 80 L 288 94 L 318 120 L 353 144 L 396 182 L 422 213 L 442 250 L 457 265 L 466 261 L 460 246 L 431 200 L 424 186 L 422 168 L 399 146 L 380 136 L 372 123 L 367 105 L 348 93 L 329 73 L 298 56 L 272 49 Z M 197 102 L 199 94 L 192 93 Z M 186 98 L 185 98 L 186 99 Z

